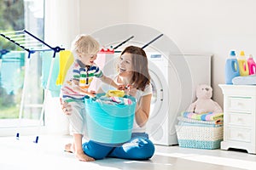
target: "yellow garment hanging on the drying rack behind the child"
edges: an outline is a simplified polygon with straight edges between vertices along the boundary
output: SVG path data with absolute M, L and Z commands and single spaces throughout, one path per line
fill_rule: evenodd
M 63 50 L 60 52 L 60 71 L 56 80 L 56 85 L 62 85 L 70 65 L 73 64 L 73 54 L 71 51 Z

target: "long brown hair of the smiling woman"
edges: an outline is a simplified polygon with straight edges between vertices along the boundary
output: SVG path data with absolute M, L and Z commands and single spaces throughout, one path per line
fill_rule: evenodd
M 131 54 L 131 63 L 134 69 L 133 76 L 131 78 L 133 86 L 143 91 L 146 85 L 150 82 L 147 54 L 143 48 L 135 46 L 125 48 L 121 55 L 125 53 Z

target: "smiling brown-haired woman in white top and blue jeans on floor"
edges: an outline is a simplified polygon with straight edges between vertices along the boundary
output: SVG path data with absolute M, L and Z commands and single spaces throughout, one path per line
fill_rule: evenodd
M 111 145 L 100 144 L 89 140 L 83 144 L 84 154 L 93 158 L 117 157 L 130 160 L 147 160 L 154 155 L 154 144 L 148 139 L 146 124 L 148 122 L 152 86 L 148 73 L 148 59 L 142 48 L 129 46 L 125 48 L 119 57 L 119 74 L 113 80 L 128 87 L 125 94 L 137 99 L 135 120 L 131 139 L 125 144 Z M 102 86 L 102 89 L 106 87 Z M 109 88 L 109 86 L 108 86 Z M 104 91 L 108 91 L 104 89 Z M 67 103 L 61 103 L 65 114 L 69 115 L 72 110 Z M 65 150 L 73 152 L 73 144 L 67 144 Z

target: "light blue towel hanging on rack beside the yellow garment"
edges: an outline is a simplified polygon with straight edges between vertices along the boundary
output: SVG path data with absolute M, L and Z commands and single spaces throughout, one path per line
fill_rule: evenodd
M 42 57 L 42 86 L 43 88 L 47 88 L 47 81 L 49 77 L 49 69 L 50 69 L 50 64 L 53 59 L 53 54 L 54 51 L 44 51 L 41 52 L 40 55 Z M 49 81 L 49 91 L 52 97 L 59 97 L 60 92 L 61 92 L 61 86 L 56 85 L 56 79 L 59 74 L 59 53 L 55 54 L 55 59 L 54 59 L 54 65 L 53 65 L 53 70 L 52 70 L 52 75 Z

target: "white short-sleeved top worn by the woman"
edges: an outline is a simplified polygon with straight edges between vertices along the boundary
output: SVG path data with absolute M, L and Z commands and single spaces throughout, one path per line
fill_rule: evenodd
M 113 81 L 116 82 L 117 84 L 119 84 L 117 82 L 117 78 L 118 78 L 118 76 L 113 77 Z M 103 92 L 107 93 L 108 90 L 111 90 L 111 89 L 114 89 L 114 88 L 112 86 L 109 86 L 108 84 L 106 84 L 104 82 L 102 83 Z M 144 91 L 137 90 L 137 94 L 136 94 L 135 98 L 137 99 L 138 105 L 140 105 L 140 101 L 141 101 L 142 97 L 146 96 L 148 94 L 152 94 L 152 85 L 151 84 L 148 84 L 146 86 L 146 88 L 144 89 Z M 145 133 L 146 132 L 146 124 L 147 123 L 145 123 L 143 127 L 139 127 L 137 122 L 136 122 L 136 119 L 134 117 L 132 133 Z

